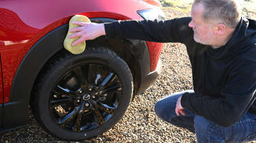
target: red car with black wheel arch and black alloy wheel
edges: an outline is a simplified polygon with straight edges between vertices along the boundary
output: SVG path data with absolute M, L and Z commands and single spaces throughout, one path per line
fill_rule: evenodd
M 157 0 L 0 1 L 0 131 L 27 125 L 31 106 L 52 136 L 98 136 L 158 77 L 159 43 L 102 36 L 82 54 L 65 50 L 75 14 L 91 22 L 164 18 Z

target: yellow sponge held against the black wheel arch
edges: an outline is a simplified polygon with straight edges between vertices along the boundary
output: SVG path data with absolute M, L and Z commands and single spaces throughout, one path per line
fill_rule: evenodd
M 82 15 L 75 15 L 70 19 L 68 31 L 74 27 L 80 27 L 79 25 L 74 25 L 73 21 L 79 21 L 79 22 L 91 22 L 89 18 Z M 79 37 L 76 38 L 68 38 L 69 35 L 72 33 L 68 32 L 66 35 L 66 38 L 64 39 L 63 45 L 66 50 L 70 51 L 72 54 L 81 54 L 85 50 L 85 42 L 82 42 L 80 44 L 77 44 L 76 46 L 72 46 L 71 44 L 76 41 L 76 39 L 79 39 Z

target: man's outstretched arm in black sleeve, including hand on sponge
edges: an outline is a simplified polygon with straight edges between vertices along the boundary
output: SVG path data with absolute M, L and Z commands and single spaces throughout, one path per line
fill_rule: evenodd
M 142 39 L 151 42 L 183 42 L 186 37 L 193 36 L 188 27 L 191 18 L 175 18 L 172 20 L 124 20 L 104 24 L 73 22 L 81 27 L 71 29 L 76 32 L 70 38 L 80 37 L 73 46 L 101 35 L 106 37 Z

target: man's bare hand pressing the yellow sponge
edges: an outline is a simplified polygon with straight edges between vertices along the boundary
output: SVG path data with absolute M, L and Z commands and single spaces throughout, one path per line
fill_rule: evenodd
M 72 46 L 84 42 L 88 39 L 95 39 L 101 35 L 106 35 L 104 24 L 103 23 L 94 23 L 94 22 L 72 22 L 74 25 L 80 25 L 81 27 L 75 27 L 70 29 L 69 32 L 76 32 L 72 33 L 68 38 L 80 37 L 75 42 L 72 43 Z

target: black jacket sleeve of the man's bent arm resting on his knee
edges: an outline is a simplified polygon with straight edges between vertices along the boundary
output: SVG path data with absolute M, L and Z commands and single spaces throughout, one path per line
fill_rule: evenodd
M 220 97 L 185 93 L 181 99 L 182 106 L 217 125 L 233 125 L 255 101 L 255 66 L 256 61 L 241 61 L 233 67 Z

